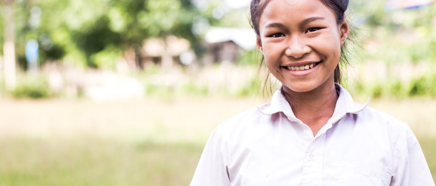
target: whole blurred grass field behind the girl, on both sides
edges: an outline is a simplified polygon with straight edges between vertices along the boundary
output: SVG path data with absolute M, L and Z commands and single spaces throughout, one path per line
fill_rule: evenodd
M 0 99 L 0 186 L 188 185 L 215 126 L 264 101 Z M 411 126 L 436 178 L 436 100 L 370 106 Z

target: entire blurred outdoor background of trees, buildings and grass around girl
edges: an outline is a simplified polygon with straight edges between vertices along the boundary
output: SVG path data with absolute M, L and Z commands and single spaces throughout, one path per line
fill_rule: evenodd
M 249 0 L 0 11 L 0 186 L 188 185 L 213 129 L 270 98 Z M 436 178 L 436 3 L 351 0 L 347 19 L 343 85 L 408 123 Z

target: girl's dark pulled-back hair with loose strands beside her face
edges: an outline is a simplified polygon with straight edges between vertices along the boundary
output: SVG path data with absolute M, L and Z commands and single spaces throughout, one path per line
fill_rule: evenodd
M 270 0 L 252 0 L 250 4 L 250 24 L 252 28 L 254 29 L 257 36 L 260 35 L 259 33 L 259 19 L 262 15 L 263 10 L 266 7 L 266 4 Z M 327 7 L 329 7 L 331 10 L 333 10 L 333 13 L 336 16 L 336 23 L 341 24 L 344 22 L 344 13 L 345 10 L 347 10 L 348 7 L 348 0 L 320 0 L 321 3 L 324 3 Z M 345 44 L 341 46 L 341 57 L 339 59 L 339 63 L 336 66 L 336 69 L 334 69 L 334 82 L 341 83 L 341 68 L 342 65 L 348 64 L 348 50 L 347 46 Z M 262 67 L 264 57 L 262 56 L 262 60 L 259 65 L 259 72 Z M 269 81 L 269 73 L 266 75 L 265 79 L 265 85 L 267 85 Z M 265 86 L 266 87 L 266 86 Z

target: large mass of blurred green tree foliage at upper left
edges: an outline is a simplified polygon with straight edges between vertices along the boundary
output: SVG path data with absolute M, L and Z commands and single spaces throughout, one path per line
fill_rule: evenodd
M 23 69 L 24 45 L 29 39 L 40 44 L 41 65 L 48 59 L 68 57 L 81 66 L 111 67 L 111 62 L 106 65 L 100 60 L 113 57 L 109 50 L 124 51 L 141 46 L 144 39 L 169 35 L 188 39 L 195 51 L 204 51 L 191 28 L 195 17 L 205 15 L 190 0 L 22 0 L 14 5 L 16 53 Z M 31 26 L 35 7 L 41 10 L 40 24 Z

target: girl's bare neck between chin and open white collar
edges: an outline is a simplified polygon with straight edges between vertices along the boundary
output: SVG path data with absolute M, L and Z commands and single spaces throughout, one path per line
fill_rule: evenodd
M 286 86 L 283 91 L 296 118 L 311 128 L 324 126 L 333 115 L 338 98 L 333 80 L 308 92 L 292 91 Z

